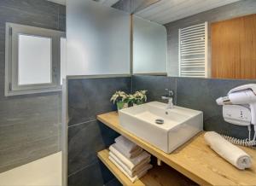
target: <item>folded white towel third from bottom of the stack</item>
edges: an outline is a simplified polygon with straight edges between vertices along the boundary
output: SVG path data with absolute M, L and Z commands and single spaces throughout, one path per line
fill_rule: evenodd
M 137 157 L 128 159 L 125 155 L 121 154 L 116 148 L 115 144 L 109 147 L 110 152 L 112 152 L 125 166 L 127 166 L 131 171 L 135 170 L 137 166 L 142 165 L 143 162 L 150 160 L 151 155 L 147 152 L 143 151 L 143 153 L 139 154 Z

